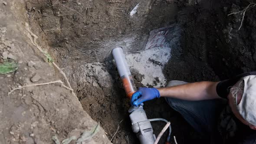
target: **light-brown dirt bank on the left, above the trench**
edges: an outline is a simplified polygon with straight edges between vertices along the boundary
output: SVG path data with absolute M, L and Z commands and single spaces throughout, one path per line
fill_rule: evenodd
M 56 80 L 64 82 L 58 76 L 59 71 L 46 62 L 35 46 L 36 36 L 28 24 L 25 2 L 0 1 L 0 19 L 0 62 L 18 64 L 16 72 L 0 75 L 0 143 L 53 144 L 53 136 L 59 141 L 72 136 L 76 140 L 83 132 L 92 131 L 97 122 L 83 110 L 69 89 L 58 83 L 21 87 Z M 38 36 L 41 39 L 43 34 Z M 41 44 L 42 49 L 47 49 L 47 44 Z M 94 132 L 86 143 L 110 144 L 100 126 Z

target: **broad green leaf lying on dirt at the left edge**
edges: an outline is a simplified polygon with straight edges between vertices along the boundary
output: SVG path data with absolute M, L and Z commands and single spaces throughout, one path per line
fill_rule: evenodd
M 18 64 L 16 62 L 3 62 L 0 64 L 0 74 L 15 72 L 17 69 Z

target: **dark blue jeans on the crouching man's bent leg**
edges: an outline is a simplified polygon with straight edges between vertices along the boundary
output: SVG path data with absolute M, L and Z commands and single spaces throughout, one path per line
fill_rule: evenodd
M 170 81 L 167 86 L 183 84 L 187 84 L 187 82 Z M 165 99 L 171 108 L 178 111 L 202 135 L 213 135 L 216 133 L 220 112 L 227 104 L 227 101 L 224 99 L 203 101 L 186 101 L 177 98 Z

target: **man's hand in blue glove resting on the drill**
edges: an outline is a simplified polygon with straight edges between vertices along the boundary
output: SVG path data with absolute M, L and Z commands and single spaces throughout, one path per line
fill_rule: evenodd
M 144 101 L 160 98 L 160 93 L 156 88 L 139 88 L 131 97 L 131 105 L 140 105 Z

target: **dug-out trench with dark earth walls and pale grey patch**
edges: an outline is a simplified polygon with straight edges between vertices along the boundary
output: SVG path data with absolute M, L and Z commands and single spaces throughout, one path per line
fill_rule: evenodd
M 246 16 L 240 31 L 235 30 L 240 17 L 227 17 L 243 5 L 232 0 L 40 0 L 26 2 L 26 9 L 30 27 L 49 45 L 84 110 L 109 139 L 123 120 L 112 142 L 137 144 L 111 50 L 123 47 L 137 88 L 174 79 L 226 79 L 255 69 L 253 15 Z M 162 27 L 165 45 L 147 49 L 150 32 Z M 243 39 L 248 33 L 252 40 Z M 163 98 L 145 102 L 144 109 L 148 118 L 171 121 L 179 144 L 205 141 Z M 163 126 L 154 122 L 154 134 Z

